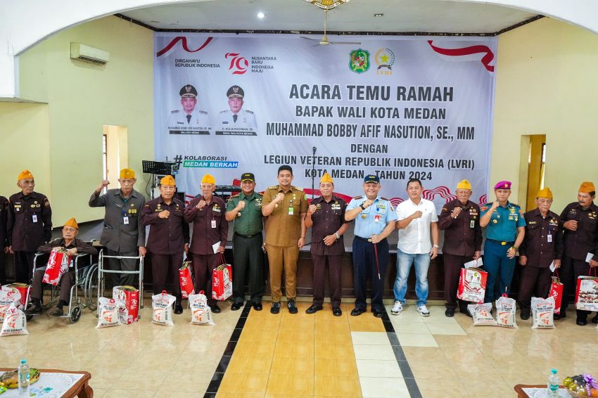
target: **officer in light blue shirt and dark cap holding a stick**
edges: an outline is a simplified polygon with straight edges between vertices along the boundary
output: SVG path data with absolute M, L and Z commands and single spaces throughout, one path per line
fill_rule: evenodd
M 393 205 L 379 193 L 380 178 L 368 174 L 364 179 L 364 194 L 352 198 L 345 212 L 345 220 L 355 220 L 353 239 L 353 285 L 355 308 L 351 315 L 366 311 L 367 278 L 371 277 L 371 312 L 381 318 L 384 314 L 382 295 L 384 275 L 388 263 L 388 235 L 395 229 L 397 214 Z

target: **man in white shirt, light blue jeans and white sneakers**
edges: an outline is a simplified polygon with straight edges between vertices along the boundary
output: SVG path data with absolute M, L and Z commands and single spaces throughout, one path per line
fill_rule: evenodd
M 397 278 L 393 288 L 395 305 L 390 314 L 397 315 L 405 305 L 407 277 L 412 264 L 415 264 L 415 293 L 417 311 L 421 316 L 429 316 L 428 302 L 428 267 L 430 259 L 438 255 L 438 215 L 430 200 L 421 198 L 423 187 L 419 179 L 407 182 L 409 199 L 397 206 Z M 431 240 L 430 240 L 431 238 Z

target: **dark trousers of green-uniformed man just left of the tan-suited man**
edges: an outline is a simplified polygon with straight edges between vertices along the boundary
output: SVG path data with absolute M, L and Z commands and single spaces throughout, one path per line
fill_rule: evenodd
M 245 280 L 249 278 L 249 293 L 252 302 L 261 302 L 266 280 L 264 277 L 264 251 L 262 234 L 251 238 L 233 235 L 233 300 L 245 300 Z

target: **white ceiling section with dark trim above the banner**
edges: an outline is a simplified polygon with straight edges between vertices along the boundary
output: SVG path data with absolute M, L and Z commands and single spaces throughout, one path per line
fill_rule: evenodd
M 265 18 L 258 19 L 258 12 Z M 374 17 L 374 13 L 383 13 Z M 212 0 L 122 13 L 167 30 L 320 32 L 324 11 L 305 0 Z M 489 4 L 445 0 L 351 0 L 328 13 L 329 32 L 494 33 L 536 14 Z

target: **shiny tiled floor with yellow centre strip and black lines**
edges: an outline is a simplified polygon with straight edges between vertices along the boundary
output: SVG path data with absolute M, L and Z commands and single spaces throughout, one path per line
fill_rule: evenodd
M 265 302 L 236 331 L 241 311 L 228 303 L 216 326 L 191 325 L 186 310 L 174 327 L 151 324 L 145 303 L 141 321 L 115 328 L 96 329 L 87 310 L 75 324 L 37 316 L 30 335 L 0 338 L 0 364 L 25 357 L 34 367 L 89 371 L 95 397 L 202 397 L 224 370 L 217 397 L 395 398 L 415 383 L 422 397 L 515 397 L 515 384 L 546 383 L 551 368 L 598 375 L 598 329 L 574 317 L 554 330 L 520 319 L 519 329 L 474 327 L 463 314 L 446 318 L 442 306 L 422 318 L 407 305 L 388 316 L 396 333 L 387 333 L 370 312 L 350 316 L 352 304 L 336 318 L 329 304 L 314 315 L 301 302 L 297 315 L 284 306 L 272 315 Z

